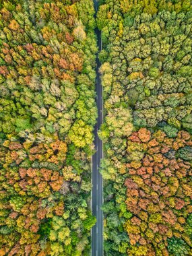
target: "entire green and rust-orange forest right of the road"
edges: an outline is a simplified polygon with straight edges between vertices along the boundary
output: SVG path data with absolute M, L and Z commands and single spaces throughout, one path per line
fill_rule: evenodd
M 106 0 L 105 255 L 192 255 L 192 5 Z

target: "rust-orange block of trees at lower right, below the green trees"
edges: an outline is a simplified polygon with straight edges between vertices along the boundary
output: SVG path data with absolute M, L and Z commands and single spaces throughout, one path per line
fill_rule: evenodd
M 163 131 L 151 134 L 141 128 L 128 138 L 125 203 L 133 213 L 125 222 L 131 243 L 128 252 L 137 251 L 139 243 L 143 255 L 161 250 L 166 255 L 167 238 L 176 236 L 187 248 L 183 255 L 188 255 L 192 234 L 186 224 L 192 216 L 190 146 L 191 135 L 185 131 L 169 138 Z

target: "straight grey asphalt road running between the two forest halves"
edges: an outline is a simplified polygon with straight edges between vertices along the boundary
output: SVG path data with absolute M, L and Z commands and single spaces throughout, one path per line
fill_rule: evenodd
M 97 11 L 97 0 L 94 0 L 94 7 Z M 98 49 L 101 51 L 102 42 L 100 31 L 96 28 L 95 32 L 98 40 Z M 100 81 L 100 74 L 98 72 L 100 67 L 98 56 L 96 57 L 96 65 L 96 104 L 98 107 L 98 119 L 94 128 L 94 145 L 96 153 L 92 157 L 92 214 L 96 216 L 97 222 L 92 228 L 92 256 L 102 256 L 102 176 L 98 169 L 100 166 L 100 160 L 102 159 L 102 141 L 98 138 L 97 134 L 98 129 L 102 124 L 102 85 Z

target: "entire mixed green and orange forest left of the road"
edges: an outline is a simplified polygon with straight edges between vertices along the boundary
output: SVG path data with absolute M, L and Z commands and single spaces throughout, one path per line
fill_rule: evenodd
M 89 255 L 93 3 L 0 7 L 0 255 Z

